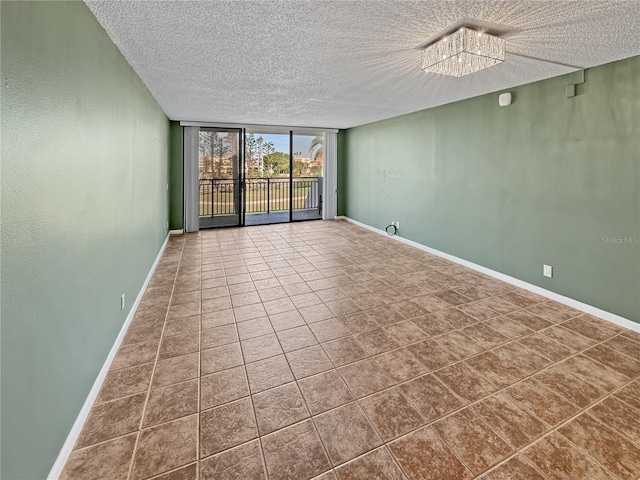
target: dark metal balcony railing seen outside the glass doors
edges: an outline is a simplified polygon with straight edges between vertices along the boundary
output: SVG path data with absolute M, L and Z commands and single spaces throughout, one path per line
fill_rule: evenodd
M 322 177 L 293 177 L 292 193 L 288 178 L 247 178 L 244 204 L 246 213 L 270 213 L 322 207 Z M 200 216 L 236 215 L 240 210 L 238 179 L 200 179 Z

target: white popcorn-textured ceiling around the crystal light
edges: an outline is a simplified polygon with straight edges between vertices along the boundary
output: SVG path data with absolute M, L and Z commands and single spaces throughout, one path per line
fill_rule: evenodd
M 347 128 L 640 54 L 640 0 L 102 1 L 91 11 L 173 120 Z M 506 61 L 425 73 L 469 20 Z

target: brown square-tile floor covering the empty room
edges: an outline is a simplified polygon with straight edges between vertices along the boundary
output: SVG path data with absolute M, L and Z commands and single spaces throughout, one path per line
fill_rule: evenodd
M 344 221 L 171 237 L 63 479 L 637 479 L 640 334 Z

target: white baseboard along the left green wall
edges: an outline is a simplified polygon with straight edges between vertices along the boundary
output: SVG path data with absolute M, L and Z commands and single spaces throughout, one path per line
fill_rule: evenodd
M 84 422 L 87 420 L 87 417 L 89 416 L 91 407 L 93 407 L 93 402 L 95 402 L 96 397 L 100 392 L 100 388 L 102 387 L 102 382 L 104 382 L 104 379 L 106 378 L 107 373 L 109 372 L 109 368 L 111 367 L 111 363 L 113 362 L 113 359 L 115 358 L 116 353 L 118 353 L 118 349 L 120 348 L 120 344 L 122 343 L 124 335 L 127 333 L 127 329 L 129 328 L 129 325 L 133 320 L 133 316 L 136 313 L 138 305 L 140 305 L 142 296 L 144 295 L 144 292 L 147 289 L 147 285 L 149 285 L 149 281 L 153 276 L 153 272 L 155 272 L 156 267 L 158 266 L 158 262 L 162 257 L 162 253 L 164 252 L 164 249 L 166 248 L 168 241 L 169 241 L 169 235 L 167 235 L 167 238 L 164 239 L 164 243 L 162 244 L 162 247 L 160 247 L 160 251 L 158 252 L 157 257 L 153 262 L 153 265 L 151 266 L 151 270 L 149 270 L 149 274 L 147 275 L 147 278 L 142 284 L 142 288 L 140 289 L 140 292 L 138 292 L 136 301 L 133 303 L 133 306 L 131 307 L 131 311 L 129 312 L 129 315 L 127 315 L 127 318 L 124 321 L 122 328 L 120 329 L 120 333 L 118 333 L 118 336 L 116 337 L 116 340 L 113 343 L 113 347 L 111 347 L 111 350 L 109 351 L 109 355 L 107 356 L 107 359 L 105 360 L 104 365 L 102 365 L 102 368 L 100 369 L 100 373 L 98 373 L 98 377 L 96 378 L 96 381 L 93 382 L 93 386 L 91 387 L 91 390 L 89 391 L 89 395 L 87 396 L 87 399 L 84 401 L 84 404 L 80 409 L 80 413 L 78 413 L 78 417 L 76 418 L 76 421 L 73 422 L 71 431 L 69 432 L 67 439 L 62 445 L 62 449 L 60 449 L 58 458 L 54 462 L 53 467 L 51 467 L 51 471 L 49 472 L 49 475 L 47 475 L 47 480 L 57 480 L 58 477 L 60 477 L 60 474 L 62 473 L 62 469 L 67 463 L 67 460 L 69 459 L 69 455 L 71 455 L 73 446 L 76 444 L 76 440 L 78 439 L 78 436 L 82 431 Z

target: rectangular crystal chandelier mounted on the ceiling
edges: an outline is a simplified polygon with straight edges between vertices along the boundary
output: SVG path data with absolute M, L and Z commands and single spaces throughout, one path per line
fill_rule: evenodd
M 422 51 L 422 69 L 462 77 L 504 62 L 505 43 L 500 37 L 463 27 Z

